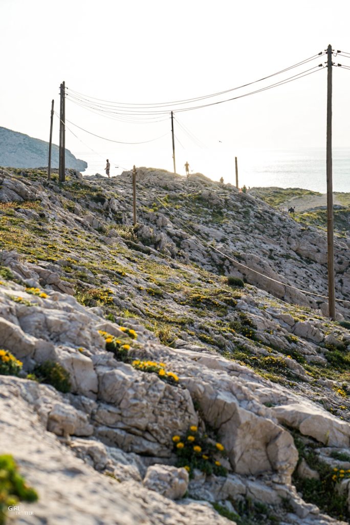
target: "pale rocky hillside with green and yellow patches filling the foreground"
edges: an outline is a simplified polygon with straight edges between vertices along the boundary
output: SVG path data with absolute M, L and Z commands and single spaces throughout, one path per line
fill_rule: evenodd
M 333 322 L 291 288 L 326 295 L 324 233 L 151 169 L 133 227 L 131 189 L 0 172 L 0 458 L 39 496 L 20 522 L 350 522 L 348 304 Z M 348 300 L 346 237 L 336 271 Z

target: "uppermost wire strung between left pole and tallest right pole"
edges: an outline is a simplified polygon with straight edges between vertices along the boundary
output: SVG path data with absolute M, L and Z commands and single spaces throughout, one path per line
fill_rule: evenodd
M 79 92 L 79 91 L 75 91 L 71 88 L 67 88 L 69 89 L 70 91 L 72 91 L 73 93 L 75 93 L 76 95 L 80 95 L 81 97 L 85 98 L 85 100 L 90 100 L 90 101 L 93 101 L 93 100 L 97 100 L 99 102 L 104 102 L 106 103 L 107 105 L 108 104 L 112 104 L 112 106 L 118 106 L 119 104 L 121 106 L 126 106 L 126 107 L 139 107 L 138 109 L 142 109 L 142 108 L 150 108 L 150 107 L 162 107 L 162 106 L 169 106 L 169 105 L 174 105 L 174 104 L 184 104 L 184 103 L 191 103 L 191 102 L 196 102 L 196 101 L 199 101 L 199 100 L 204 100 L 204 99 L 207 99 L 207 98 L 212 98 L 212 97 L 216 97 L 216 96 L 219 96 L 219 95 L 225 95 L 226 93 L 229 93 L 230 91 L 234 91 L 236 89 L 240 89 L 240 88 L 244 88 L 244 87 L 247 87 L 247 86 L 251 86 L 253 85 L 254 83 L 257 83 L 257 82 L 261 82 L 263 80 L 266 80 L 268 78 L 271 78 L 271 77 L 274 77 L 276 75 L 280 75 L 281 73 L 284 73 L 286 71 L 289 71 L 290 69 L 294 69 L 296 67 L 299 67 L 301 65 L 304 65 L 304 64 L 307 64 L 308 62 L 314 60 L 316 57 L 319 57 L 321 55 L 325 55 L 324 52 L 320 52 L 320 53 L 317 53 L 315 55 L 312 55 L 311 57 L 309 58 L 305 58 L 304 60 L 301 60 L 300 62 L 297 62 L 297 64 L 293 64 L 292 66 L 289 66 L 285 69 L 281 69 L 280 71 L 277 71 L 275 73 L 272 73 L 271 75 L 267 75 L 265 77 L 262 77 L 262 78 L 259 78 L 258 80 L 254 80 L 252 82 L 247 82 L 241 86 L 237 86 L 237 87 L 234 87 L 234 88 L 230 88 L 230 89 L 226 89 L 224 91 L 218 91 L 216 93 L 211 93 L 210 95 L 204 95 L 204 96 L 201 96 L 201 97 L 194 97 L 194 98 L 190 98 L 190 99 L 183 99 L 183 100 L 173 100 L 173 101 L 170 101 L 170 102 L 153 102 L 153 103 L 127 103 L 127 102 L 115 102 L 115 101 L 111 101 L 111 100 L 105 100 L 105 99 L 99 99 L 99 98 L 95 98 L 95 97 L 87 97 L 86 95 L 83 95 L 83 93 Z M 103 104 L 104 106 L 106 104 Z

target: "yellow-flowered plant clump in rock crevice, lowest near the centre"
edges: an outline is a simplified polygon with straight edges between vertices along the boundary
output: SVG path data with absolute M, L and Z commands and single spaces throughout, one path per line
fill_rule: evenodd
M 227 470 L 219 457 L 227 457 L 225 447 L 215 443 L 207 435 L 199 432 L 196 425 L 191 425 L 183 436 L 172 436 L 173 450 L 177 455 L 177 467 L 184 467 L 190 478 L 193 470 L 199 469 L 207 475 L 227 476 Z

